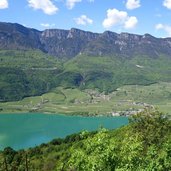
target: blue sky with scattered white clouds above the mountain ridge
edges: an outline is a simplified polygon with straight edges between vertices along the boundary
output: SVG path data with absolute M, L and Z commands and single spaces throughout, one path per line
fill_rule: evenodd
M 171 0 L 0 0 L 0 21 L 171 37 Z

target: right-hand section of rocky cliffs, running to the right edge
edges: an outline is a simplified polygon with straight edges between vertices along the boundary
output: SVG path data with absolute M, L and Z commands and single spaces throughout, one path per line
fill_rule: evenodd
M 135 35 L 104 32 L 84 49 L 90 55 L 115 55 L 121 57 L 171 55 L 171 38 L 155 38 L 149 34 Z

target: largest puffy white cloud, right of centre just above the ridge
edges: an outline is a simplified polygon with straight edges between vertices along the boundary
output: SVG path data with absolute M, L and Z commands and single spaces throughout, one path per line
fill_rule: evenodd
M 128 16 L 128 13 L 125 11 L 119 11 L 117 9 L 108 9 L 107 10 L 107 18 L 103 21 L 103 27 L 106 29 L 111 28 L 115 25 L 122 25 L 126 29 L 134 28 L 138 23 L 136 17 Z

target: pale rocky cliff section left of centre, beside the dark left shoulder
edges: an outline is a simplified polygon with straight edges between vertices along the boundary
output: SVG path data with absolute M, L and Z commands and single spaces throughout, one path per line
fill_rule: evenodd
M 71 58 L 78 55 L 89 42 L 97 37 L 96 33 L 72 28 L 71 30 L 45 30 L 40 39 L 45 50 L 51 55 Z

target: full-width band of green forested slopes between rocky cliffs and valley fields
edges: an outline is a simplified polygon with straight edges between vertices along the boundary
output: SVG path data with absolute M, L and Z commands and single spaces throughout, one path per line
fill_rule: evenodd
M 94 89 L 109 93 L 123 85 L 170 82 L 171 59 L 78 55 L 61 61 L 41 51 L 0 51 L 0 101 L 42 95 L 52 88 Z

